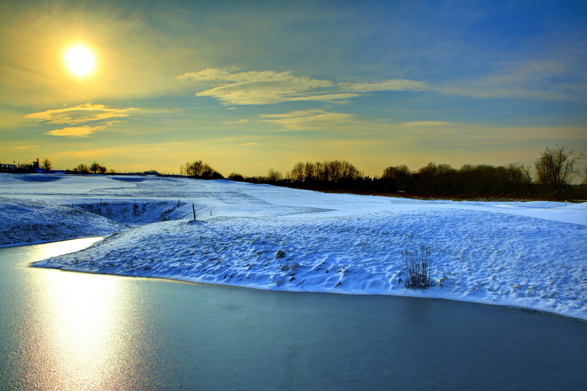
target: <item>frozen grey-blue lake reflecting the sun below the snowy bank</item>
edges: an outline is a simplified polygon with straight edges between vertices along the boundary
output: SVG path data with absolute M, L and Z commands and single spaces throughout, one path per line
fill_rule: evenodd
M 587 322 L 440 299 L 30 267 L 0 249 L 1 390 L 582 389 Z

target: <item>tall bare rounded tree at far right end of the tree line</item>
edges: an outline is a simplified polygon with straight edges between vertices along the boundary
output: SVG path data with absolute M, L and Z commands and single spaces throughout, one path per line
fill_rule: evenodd
M 554 148 L 546 147 L 534 163 L 538 181 L 553 189 L 552 195 L 554 195 L 560 192 L 574 175 L 581 175 L 575 165 L 584 158 L 585 154 L 575 152 L 568 145 L 557 144 Z

